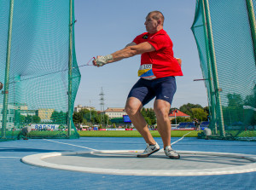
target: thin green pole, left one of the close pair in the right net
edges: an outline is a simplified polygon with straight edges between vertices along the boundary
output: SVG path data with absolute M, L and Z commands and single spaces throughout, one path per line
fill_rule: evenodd
M 216 106 L 214 97 L 214 89 L 212 86 L 212 66 L 211 66 L 211 58 L 209 53 L 209 42 L 208 42 L 208 35 L 207 35 L 207 20 L 206 20 L 206 11 L 205 11 L 205 3 L 202 1 L 201 11 L 203 13 L 203 26 L 204 26 L 204 34 L 206 40 L 206 52 L 207 52 L 207 67 L 208 67 L 208 83 L 209 83 L 209 90 L 210 90 L 210 102 L 211 102 L 211 114 L 212 114 L 212 121 L 214 126 L 214 134 L 217 134 L 217 119 L 216 119 Z

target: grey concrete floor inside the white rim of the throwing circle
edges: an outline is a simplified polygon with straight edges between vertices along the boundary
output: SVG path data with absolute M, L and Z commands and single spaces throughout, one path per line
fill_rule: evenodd
M 178 160 L 166 158 L 163 153 L 155 153 L 149 158 L 137 158 L 137 153 L 83 153 L 70 156 L 44 158 L 53 164 L 90 166 L 91 168 L 123 170 L 200 170 L 227 168 L 251 164 L 252 161 L 242 158 L 217 157 L 205 155 L 181 154 Z

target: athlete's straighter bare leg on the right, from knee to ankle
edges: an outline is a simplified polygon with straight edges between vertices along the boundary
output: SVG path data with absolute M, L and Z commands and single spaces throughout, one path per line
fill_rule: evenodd
M 157 130 L 161 135 L 164 148 L 171 145 L 171 122 L 169 119 L 169 110 L 171 105 L 167 101 L 154 101 L 154 112 L 157 119 Z

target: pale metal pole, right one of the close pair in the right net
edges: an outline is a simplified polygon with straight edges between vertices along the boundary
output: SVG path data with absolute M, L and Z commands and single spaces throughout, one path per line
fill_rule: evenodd
M 218 110 L 218 121 L 219 121 L 219 127 L 220 127 L 220 135 L 222 137 L 225 137 L 225 130 L 224 130 L 224 118 L 223 118 L 223 111 L 221 107 L 221 100 L 219 92 L 221 89 L 219 89 L 219 83 L 218 83 L 218 69 L 217 69 L 217 63 L 216 63 L 216 57 L 215 57 L 215 49 L 214 49 L 214 41 L 213 41 L 213 35 L 212 35 L 212 21 L 211 21 L 211 14 L 209 9 L 209 2 L 208 0 L 204 0 L 205 3 L 205 12 L 206 12 L 206 18 L 207 18 L 207 34 L 209 38 L 209 50 L 211 55 L 211 64 L 212 64 L 212 79 L 215 87 L 215 97 L 216 97 L 216 108 Z

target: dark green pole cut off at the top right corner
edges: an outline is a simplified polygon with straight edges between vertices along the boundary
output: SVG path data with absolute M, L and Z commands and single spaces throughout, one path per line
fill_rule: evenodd
M 247 12 L 248 12 L 248 17 L 250 22 L 251 33 L 252 33 L 254 60 L 256 64 L 256 21 L 255 21 L 254 9 L 253 9 L 253 0 L 247 0 Z

